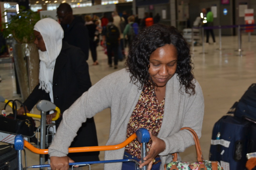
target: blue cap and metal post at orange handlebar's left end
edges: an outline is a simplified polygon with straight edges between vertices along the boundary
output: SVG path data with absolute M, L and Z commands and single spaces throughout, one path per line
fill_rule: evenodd
M 15 136 L 14 148 L 17 151 L 18 170 L 22 170 L 22 150 L 24 149 L 24 140 L 22 135 Z

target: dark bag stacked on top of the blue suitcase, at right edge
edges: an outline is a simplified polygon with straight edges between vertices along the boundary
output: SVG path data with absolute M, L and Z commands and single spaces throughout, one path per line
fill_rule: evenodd
M 238 101 L 234 115 L 256 121 L 256 83 L 253 83 Z

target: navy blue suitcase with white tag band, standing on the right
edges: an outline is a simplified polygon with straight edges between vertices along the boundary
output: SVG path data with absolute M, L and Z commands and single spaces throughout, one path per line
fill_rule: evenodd
M 213 127 L 209 160 L 219 161 L 224 170 L 245 170 L 250 124 L 231 115 L 218 120 Z

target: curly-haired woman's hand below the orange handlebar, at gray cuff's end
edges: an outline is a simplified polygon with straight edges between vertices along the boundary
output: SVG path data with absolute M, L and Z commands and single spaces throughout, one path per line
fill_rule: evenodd
M 68 156 L 58 157 L 58 156 L 51 156 L 50 157 L 50 167 L 52 170 L 68 170 L 69 163 L 73 163 L 72 159 Z M 74 166 L 78 167 L 78 166 Z

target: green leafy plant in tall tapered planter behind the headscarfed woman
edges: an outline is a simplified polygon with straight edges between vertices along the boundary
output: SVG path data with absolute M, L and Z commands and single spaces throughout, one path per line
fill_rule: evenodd
M 34 42 L 34 25 L 40 20 L 40 14 L 20 7 L 18 14 L 2 23 L 3 35 L 12 37 L 14 68 L 24 101 L 38 84 L 39 55 Z

